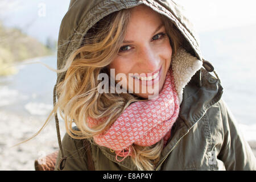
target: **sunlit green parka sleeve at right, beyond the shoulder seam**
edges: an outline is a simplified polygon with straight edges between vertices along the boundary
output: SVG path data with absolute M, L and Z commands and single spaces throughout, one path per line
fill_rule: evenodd
M 224 100 L 207 111 L 212 146 L 227 170 L 256 170 L 256 159 Z M 212 149 L 213 150 L 213 149 Z

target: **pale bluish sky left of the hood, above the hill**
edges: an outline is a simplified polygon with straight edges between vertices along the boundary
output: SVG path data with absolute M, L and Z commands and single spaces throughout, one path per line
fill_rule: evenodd
M 0 0 L 0 7 L 1 1 L 11 0 Z M 45 43 L 48 37 L 57 40 L 69 0 L 20 0 L 7 4 L 4 12 L 0 10 L 2 22 L 8 27 L 19 27 Z

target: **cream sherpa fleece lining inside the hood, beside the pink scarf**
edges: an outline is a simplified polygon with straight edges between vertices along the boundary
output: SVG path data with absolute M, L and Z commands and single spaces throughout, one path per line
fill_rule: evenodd
M 176 55 L 171 60 L 174 82 L 180 104 L 183 100 L 183 89 L 191 80 L 193 75 L 202 67 L 203 62 L 192 56 L 184 48 L 178 49 Z

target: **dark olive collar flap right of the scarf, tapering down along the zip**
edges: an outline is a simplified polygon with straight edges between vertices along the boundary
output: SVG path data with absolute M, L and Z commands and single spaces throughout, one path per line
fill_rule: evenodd
M 199 86 L 199 77 L 201 85 Z M 201 68 L 184 88 L 183 102 L 180 113 L 175 122 L 176 128 L 173 137 L 162 151 L 161 159 L 156 166 L 159 169 L 181 138 L 204 116 L 210 106 L 216 104 L 222 96 L 223 88 L 220 80 L 216 79 L 204 68 Z

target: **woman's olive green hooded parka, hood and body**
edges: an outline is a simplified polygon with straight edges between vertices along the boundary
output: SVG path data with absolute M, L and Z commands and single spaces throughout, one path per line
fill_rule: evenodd
M 172 127 L 171 138 L 164 147 L 155 170 L 255 170 L 255 156 L 243 138 L 232 113 L 221 100 L 221 82 L 217 75 L 216 78 L 209 73 L 213 72 L 214 68 L 203 59 L 199 39 L 192 24 L 175 1 L 72 0 L 60 26 L 57 68 L 63 68 L 73 48 L 79 48 L 83 35 L 98 20 L 114 11 L 141 4 L 166 15 L 187 40 L 185 47 L 192 50 L 188 55 L 188 62 L 193 58 L 203 65 L 190 73 L 191 76 L 182 87 L 183 99 L 179 117 Z M 178 61 L 177 64 L 176 67 L 180 68 Z M 65 73 L 57 75 L 56 85 L 64 76 Z M 130 156 L 122 162 L 117 162 L 112 150 L 94 142 L 89 143 L 90 147 L 86 148 L 83 140 L 72 139 L 67 133 L 61 142 L 56 114 L 55 119 L 60 145 L 56 170 L 59 170 L 59 164 L 63 170 L 89 170 L 91 168 L 88 164 L 92 165 L 91 163 L 96 170 L 137 170 Z M 90 150 L 89 153 L 85 152 L 86 150 Z

